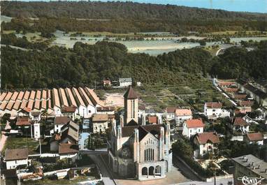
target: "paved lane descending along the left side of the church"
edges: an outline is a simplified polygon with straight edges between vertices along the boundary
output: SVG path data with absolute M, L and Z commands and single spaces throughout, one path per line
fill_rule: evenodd
M 99 167 L 103 183 L 105 185 L 116 185 L 113 179 L 111 179 L 111 175 L 109 174 L 106 165 L 103 163 L 101 156 L 97 154 L 91 154 L 90 157 L 92 158 L 94 163 L 96 163 L 96 165 Z

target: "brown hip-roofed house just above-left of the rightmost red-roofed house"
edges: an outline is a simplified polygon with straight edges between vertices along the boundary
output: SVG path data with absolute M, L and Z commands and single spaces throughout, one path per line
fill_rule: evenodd
M 240 131 L 241 133 L 250 131 L 250 123 L 243 119 L 243 117 L 232 117 L 230 127 L 233 131 Z

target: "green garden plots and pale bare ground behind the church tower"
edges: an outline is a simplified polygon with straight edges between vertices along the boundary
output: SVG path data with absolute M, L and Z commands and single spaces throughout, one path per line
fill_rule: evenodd
M 164 112 L 168 106 L 178 106 L 180 108 L 194 108 L 203 112 L 206 101 L 220 101 L 224 106 L 231 106 L 222 94 L 213 86 L 212 81 L 201 78 L 197 82 L 188 84 L 178 84 L 176 86 L 164 86 L 162 84 L 154 86 L 134 87 L 139 95 L 139 104 L 145 105 L 147 109 L 157 112 Z M 106 105 L 123 107 L 123 95 L 126 89 L 99 90 L 97 93 L 106 97 Z M 104 95 L 103 95 L 104 94 Z

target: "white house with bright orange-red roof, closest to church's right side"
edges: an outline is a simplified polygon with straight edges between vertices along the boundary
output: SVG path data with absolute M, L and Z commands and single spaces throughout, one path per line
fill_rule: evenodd
M 190 138 L 196 133 L 203 133 L 204 126 L 202 119 L 188 119 L 183 125 L 182 135 Z

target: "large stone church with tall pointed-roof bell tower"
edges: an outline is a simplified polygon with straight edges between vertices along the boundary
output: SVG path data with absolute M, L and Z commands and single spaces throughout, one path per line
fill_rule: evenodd
M 138 96 L 129 87 L 124 94 L 124 115 L 120 124 L 113 124 L 108 141 L 110 168 L 120 177 L 140 181 L 164 178 L 172 165 L 170 125 L 141 123 Z

